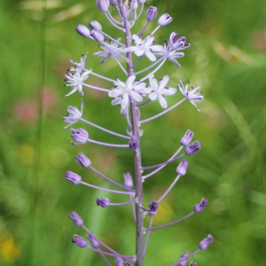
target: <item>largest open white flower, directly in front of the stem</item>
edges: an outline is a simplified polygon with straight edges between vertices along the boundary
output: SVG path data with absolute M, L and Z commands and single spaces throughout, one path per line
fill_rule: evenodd
M 116 79 L 114 89 L 109 92 L 110 97 L 121 98 L 121 109 L 129 106 L 130 99 L 136 102 L 142 101 L 143 94 L 149 92 L 149 90 L 145 90 L 145 83 L 135 82 L 135 79 L 135 75 L 129 76 L 127 82 L 121 82 L 119 79 Z

